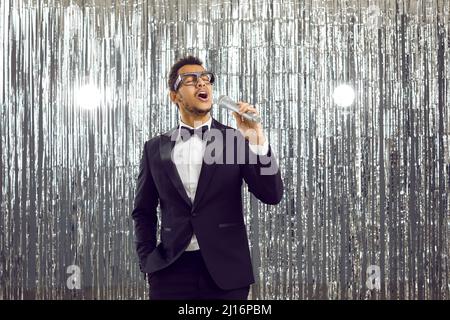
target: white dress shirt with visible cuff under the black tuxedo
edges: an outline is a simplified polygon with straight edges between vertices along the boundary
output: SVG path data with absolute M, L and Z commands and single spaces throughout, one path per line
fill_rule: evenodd
M 201 126 L 207 125 L 208 129 L 211 129 L 212 118 L 203 123 Z M 201 127 L 199 126 L 199 127 Z M 180 129 L 181 127 L 186 127 L 189 129 L 191 126 L 183 123 L 180 119 Z M 269 151 L 269 143 L 266 139 L 265 143 L 260 145 L 249 145 L 250 150 L 257 155 L 266 155 Z M 181 139 L 180 132 L 178 132 L 178 138 L 175 142 L 173 149 L 173 162 L 177 168 L 178 174 L 180 175 L 181 182 L 183 183 L 186 194 L 194 202 L 195 192 L 197 191 L 198 178 L 200 176 L 200 171 L 202 169 L 203 155 L 205 153 L 206 141 L 201 140 L 197 135 L 194 135 L 187 141 Z M 199 250 L 200 247 L 197 242 L 197 237 L 195 234 L 192 236 L 189 246 L 186 251 Z

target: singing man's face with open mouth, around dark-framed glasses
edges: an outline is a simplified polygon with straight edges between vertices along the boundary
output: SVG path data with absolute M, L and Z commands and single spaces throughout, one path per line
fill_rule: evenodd
M 195 64 L 188 64 L 178 70 L 178 74 L 189 72 L 203 72 L 205 68 Z M 212 107 L 212 85 L 198 79 L 195 85 L 180 83 L 177 91 L 170 92 L 170 98 L 177 103 L 181 110 L 192 115 L 206 115 Z

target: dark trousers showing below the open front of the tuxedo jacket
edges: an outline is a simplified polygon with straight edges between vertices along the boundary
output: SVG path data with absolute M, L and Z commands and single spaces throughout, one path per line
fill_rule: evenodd
M 184 252 L 165 269 L 149 275 L 150 300 L 247 300 L 250 286 L 219 288 L 211 278 L 200 250 Z

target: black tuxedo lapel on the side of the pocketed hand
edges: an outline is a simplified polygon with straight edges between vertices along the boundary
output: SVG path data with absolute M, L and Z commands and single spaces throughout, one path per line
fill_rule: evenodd
M 175 146 L 175 139 L 172 139 L 173 134 L 176 134 L 176 128 L 161 136 L 159 144 L 161 161 L 163 164 L 163 168 L 169 176 L 169 179 L 174 185 L 175 189 L 178 191 L 181 198 L 183 198 L 183 200 L 186 201 L 189 206 L 191 206 L 192 202 L 189 199 L 186 190 L 184 189 L 183 182 L 181 181 L 180 175 L 178 174 L 178 170 L 174 162 L 172 161 L 172 150 Z

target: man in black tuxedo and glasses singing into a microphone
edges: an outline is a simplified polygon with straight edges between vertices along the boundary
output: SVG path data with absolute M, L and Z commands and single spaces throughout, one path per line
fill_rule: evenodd
M 283 195 L 261 124 L 241 116 L 258 111 L 239 102 L 239 114 L 233 114 L 239 131 L 212 119 L 213 83 L 214 75 L 198 58 L 176 62 L 169 89 L 179 126 L 144 145 L 132 217 L 150 299 L 247 299 L 254 278 L 242 182 L 267 204 L 279 203 Z M 268 167 L 275 170 L 264 173 Z

